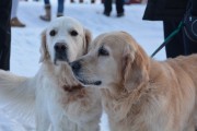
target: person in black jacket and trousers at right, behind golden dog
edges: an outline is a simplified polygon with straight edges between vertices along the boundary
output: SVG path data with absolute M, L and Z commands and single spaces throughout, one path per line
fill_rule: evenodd
M 148 0 L 143 20 L 163 21 L 164 38 L 177 28 L 192 3 L 189 16 L 197 17 L 197 0 Z M 197 29 L 197 24 L 195 25 Z M 175 58 L 179 55 L 197 52 L 197 43 L 192 41 L 185 34 L 184 28 L 176 34 L 165 46 L 166 57 Z

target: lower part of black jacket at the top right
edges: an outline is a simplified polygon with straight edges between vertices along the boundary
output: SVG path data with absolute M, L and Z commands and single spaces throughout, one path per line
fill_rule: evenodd
M 143 20 L 181 21 L 186 12 L 188 0 L 148 0 Z

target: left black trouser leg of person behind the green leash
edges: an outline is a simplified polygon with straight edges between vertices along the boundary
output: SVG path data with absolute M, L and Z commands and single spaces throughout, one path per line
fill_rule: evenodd
M 172 32 L 174 32 L 177 26 L 179 25 L 179 21 L 164 21 L 163 22 L 163 29 L 164 29 L 164 38 L 166 38 Z M 184 50 L 184 38 L 183 32 L 178 32 L 165 46 L 166 57 L 167 58 L 175 58 L 179 55 L 185 55 Z

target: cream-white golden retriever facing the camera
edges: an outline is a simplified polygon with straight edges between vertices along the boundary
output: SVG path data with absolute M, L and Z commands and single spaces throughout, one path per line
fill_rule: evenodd
M 40 69 L 33 78 L 0 71 L 0 99 L 35 108 L 36 131 L 99 131 L 102 104 L 95 88 L 84 88 L 69 62 L 86 52 L 91 34 L 77 20 L 65 16 L 43 33 Z M 35 104 L 35 105 L 34 105 Z M 34 106 L 33 106 L 34 105 Z M 15 108 L 14 108 L 15 109 Z

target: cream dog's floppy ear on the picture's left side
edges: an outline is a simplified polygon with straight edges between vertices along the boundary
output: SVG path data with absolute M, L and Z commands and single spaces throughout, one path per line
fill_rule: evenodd
M 46 46 L 46 29 L 43 31 L 42 33 L 42 45 L 39 51 L 40 51 L 39 62 L 43 62 L 44 60 L 49 58 L 49 53 L 47 51 L 47 46 Z

